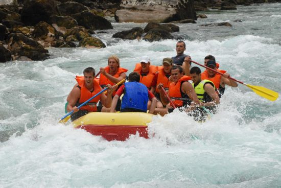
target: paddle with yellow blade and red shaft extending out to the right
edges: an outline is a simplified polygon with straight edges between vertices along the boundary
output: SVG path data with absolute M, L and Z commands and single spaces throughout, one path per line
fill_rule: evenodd
M 195 61 L 191 61 L 191 62 L 193 62 L 195 64 L 198 64 L 200 66 L 203 66 L 203 67 L 205 67 L 205 68 L 207 68 L 209 70 L 213 70 L 214 72 L 216 72 L 216 73 L 218 73 L 220 75 L 223 75 L 223 73 L 218 72 L 217 70 L 215 70 L 213 68 L 207 67 L 207 66 L 202 65 L 200 63 L 197 63 Z M 236 80 L 235 78 L 232 78 L 232 77 L 228 77 L 228 78 L 231 79 L 231 80 L 234 80 L 234 81 L 236 81 L 238 83 L 241 83 L 243 85 L 246 85 L 247 87 L 252 89 L 257 95 L 259 95 L 259 96 L 261 96 L 261 97 L 263 97 L 265 99 L 268 99 L 270 101 L 275 101 L 278 98 L 278 96 L 279 96 L 279 94 L 276 91 L 270 90 L 268 88 L 265 88 L 265 87 L 262 87 L 262 86 L 255 86 L 255 85 L 246 84 L 246 83 L 241 82 L 239 80 Z

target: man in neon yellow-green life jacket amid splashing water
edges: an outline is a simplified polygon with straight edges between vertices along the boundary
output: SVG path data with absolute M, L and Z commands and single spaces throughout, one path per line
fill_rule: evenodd
M 216 113 L 217 106 L 220 104 L 220 98 L 214 83 L 209 80 L 201 80 L 201 70 L 197 66 L 190 69 L 190 76 L 201 106 L 205 107 L 211 113 Z M 196 121 L 204 121 L 208 113 L 203 108 L 197 108 L 194 110 L 193 115 Z

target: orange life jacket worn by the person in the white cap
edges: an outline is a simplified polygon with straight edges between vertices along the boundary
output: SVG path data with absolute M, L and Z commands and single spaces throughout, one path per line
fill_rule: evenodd
M 142 83 L 147 86 L 148 89 L 151 88 L 151 84 L 154 78 L 155 73 L 157 72 L 157 67 L 154 65 L 149 66 L 148 75 L 142 76 L 140 72 L 142 71 L 142 64 L 136 63 L 134 72 L 137 72 L 140 76 L 139 83 Z

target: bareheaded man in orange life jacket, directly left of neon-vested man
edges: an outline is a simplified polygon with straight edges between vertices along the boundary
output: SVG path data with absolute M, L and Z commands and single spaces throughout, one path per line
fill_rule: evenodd
M 185 108 L 190 108 L 190 110 L 195 109 L 196 106 L 200 106 L 200 101 L 197 98 L 196 92 L 189 80 L 189 76 L 183 75 L 183 69 L 181 66 L 173 66 L 171 70 L 171 77 L 173 82 L 169 85 L 168 96 L 171 98 L 173 103 L 177 108 L 184 110 Z M 158 84 L 157 88 L 160 91 L 160 98 L 163 105 L 167 105 L 166 108 L 156 108 L 155 113 L 160 115 L 165 115 L 168 112 L 173 111 L 172 105 L 169 103 L 168 98 L 165 93 L 161 90 L 163 84 Z M 183 109 L 182 109 L 183 108 Z

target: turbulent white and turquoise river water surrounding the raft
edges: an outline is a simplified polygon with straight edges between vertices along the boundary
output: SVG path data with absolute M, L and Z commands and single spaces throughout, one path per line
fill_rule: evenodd
M 175 35 L 193 60 L 212 54 L 232 77 L 279 92 L 280 12 L 280 3 L 208 11 Z M 201 26 L 221 21 L 232 27 Z M 150 139 L 107 142 L 58 124 L 85 67 L 106 66 L 116 54 L 131 71 L 143 55 L 158 65 L 176 54 L 176 40 L 112 39 L 146 25 L 112 22 L 114 30 L 97 34 L 105 49 L 50 49 L 49 60 L 0 64 L 0 187 L 281 187 L 280 99 L 241 84 L 226 88 L 219 112 L 203 124 L 179 111 L 155 116 Z

